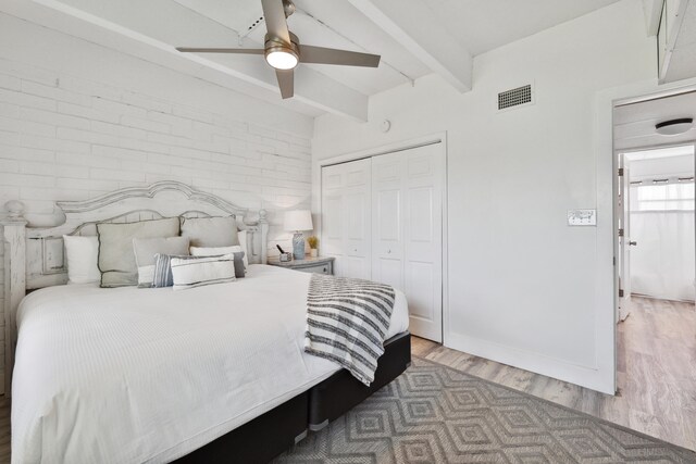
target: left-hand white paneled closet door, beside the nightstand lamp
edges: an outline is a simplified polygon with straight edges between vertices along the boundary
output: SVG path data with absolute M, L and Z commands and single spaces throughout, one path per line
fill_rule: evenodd
M 336 258 L 334 275 L 372 278 L 371 161 L 322 167 L 322 254 Z

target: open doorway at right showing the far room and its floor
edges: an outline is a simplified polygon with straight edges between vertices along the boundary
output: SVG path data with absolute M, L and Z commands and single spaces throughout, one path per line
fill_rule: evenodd
M 696 92 L 617 105 L 617 387 L 629 424 L 679 436 L 696 410 Z M 639 424 L 638 424 L 639 423 Z

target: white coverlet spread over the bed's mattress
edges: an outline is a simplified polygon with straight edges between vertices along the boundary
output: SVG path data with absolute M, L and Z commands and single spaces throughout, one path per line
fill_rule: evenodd
M 309 274 L 251 265 L 229 284 L 51 287 L 18 314 L 14 463 L 166 462 L 338 369 L 302 351 Z M 408 329 L 397 291 L 387 337 Z

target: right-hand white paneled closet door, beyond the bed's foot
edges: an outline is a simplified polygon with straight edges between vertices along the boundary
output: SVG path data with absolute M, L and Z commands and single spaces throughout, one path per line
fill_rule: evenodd
M 372 278 L 402 290 L 411 333 L 438 342 L 444 172 L 440 145 L 372 159 Z

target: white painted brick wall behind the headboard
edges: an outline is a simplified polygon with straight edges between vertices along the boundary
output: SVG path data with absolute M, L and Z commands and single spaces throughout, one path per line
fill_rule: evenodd
M 310 204 L 311 118 L 5 14 L 0 43 L 0 210 L 48 225 L 55 200 L 176 179 L 269 210 L 289 247 L 278 212 Z

